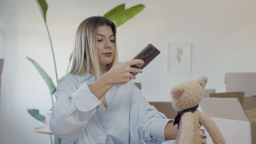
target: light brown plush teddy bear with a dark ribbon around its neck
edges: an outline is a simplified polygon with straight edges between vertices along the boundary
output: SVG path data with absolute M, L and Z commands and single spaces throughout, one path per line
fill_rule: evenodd
M 201 143 L 199 124 L 205 127 L 215 144 L 226 143 L 212 119 L 197 110 L 207 80 L 207 76 L 201 76 L 197 81 L 188 81 L 177 85 L 171 91 L 172 106 L 178 111 L 178 115 L 174 119 L 174 125 L 178 124 L 176 144 Z

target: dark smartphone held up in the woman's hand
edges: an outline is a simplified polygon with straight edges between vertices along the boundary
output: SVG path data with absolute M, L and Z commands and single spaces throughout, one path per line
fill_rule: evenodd
M 131 67 L 143 69 L 145 68 L 156 56 L 158 56 L 160 51 L 155 48 L 152 44 L 148 44 L 141 52 L 138 53 L 133 59 L 142 59 L 144 64 L 135 64 Z M 137 75 L 138 73 L 131 73 Z

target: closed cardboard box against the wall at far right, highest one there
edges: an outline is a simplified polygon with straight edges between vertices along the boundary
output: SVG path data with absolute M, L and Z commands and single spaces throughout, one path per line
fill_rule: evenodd
M 226 73 L 226 92 L 245 92 L 245 97 L 256 95 L 256 73 Z

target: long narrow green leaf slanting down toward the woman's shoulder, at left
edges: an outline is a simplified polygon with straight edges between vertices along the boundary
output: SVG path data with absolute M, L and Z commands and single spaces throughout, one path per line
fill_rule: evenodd
M 48 86 L 50 93 L 53 94 L 56 91 L 56 87 L 54 86 L 54 83 L 51 80 L 51 78 L 49 77 L 49 75 L 46 74 L 44 69 L 42 67 L 40 67 L 40 65 L 36 61 L 34 61 L 32 58 L 27 57 L 27 59 L 34 65 L 34 67 L 36 67 L 37 71 L 43 77 L 46 85 Z

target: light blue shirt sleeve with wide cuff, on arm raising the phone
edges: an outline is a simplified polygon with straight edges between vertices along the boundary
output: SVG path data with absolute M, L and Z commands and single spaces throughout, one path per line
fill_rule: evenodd
M 74 143 L 82 135 L 89 119 L 101 101 L 90 92 L 88 83 L 74 89 L 75 83 L 68 79 L 58 82 L 55 107 L 50 119 L 50 129 L 64 143 Z

